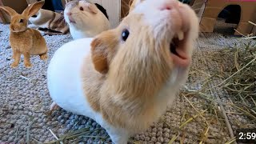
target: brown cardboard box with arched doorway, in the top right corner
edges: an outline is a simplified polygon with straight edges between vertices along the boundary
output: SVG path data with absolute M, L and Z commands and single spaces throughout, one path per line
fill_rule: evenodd
M 205 7 L 202 7 L 201 9 L 201 32 L 213 32 L 218 14 L 220 14 L 226 6 L 237 5 L 241 8 L 240 22 L 238 23 L 237 30 L 242 34 L 253 33 L 253 25 L 251 25 L 249 21 L 256 21 L 256 2 L 246 2 L 241 0 L 208 0 L 206 2 L 205 0 L 196 0 L 192 6 L 198 5 L 198 3 L 200 3 L 200 6 L 203 6 L 205 3 Z M 240 35 L 238 32 L 235 32 L 234 34 Z

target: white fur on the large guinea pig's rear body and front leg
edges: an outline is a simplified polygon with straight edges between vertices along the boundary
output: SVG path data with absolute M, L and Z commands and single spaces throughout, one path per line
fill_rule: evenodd
M 64 110 L 94 119 L 110 134 L 115 143 L 126 143 L 130 134 L 126 130 L 110 126 L 101 114 L 91 109 L 82 92 L 81 67 L 90 53 L 92 38 L 82 38 L 60 47 L 50 60 L 47 85 L 50 97 Z

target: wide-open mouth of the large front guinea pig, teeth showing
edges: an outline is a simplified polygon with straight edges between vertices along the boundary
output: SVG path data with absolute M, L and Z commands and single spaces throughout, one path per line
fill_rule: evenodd
M 174 35 L 174 38 L 170 42 L 170 53 L 174 62 L 178 66 L 189 66 L 190 58 L 186 54 L 184 33 L 181 31 L 178 34 Z

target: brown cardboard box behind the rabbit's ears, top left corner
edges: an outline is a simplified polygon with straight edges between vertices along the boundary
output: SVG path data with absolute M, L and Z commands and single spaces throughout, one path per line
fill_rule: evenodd
M 16 10 L 18 14 L 22 14 L 22 11 L 26 9 L 27 2 L 26 0 L 0 0 L 0 5 L 9 6 Z M 4 23 L 10 22 L 10 16 L 3 10 L 0 10 L 0 18 Z

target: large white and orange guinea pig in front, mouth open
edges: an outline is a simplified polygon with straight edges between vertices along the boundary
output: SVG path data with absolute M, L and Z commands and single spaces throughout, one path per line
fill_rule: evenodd
M 190 6 L 138 1 L 116 29 L 56 51 L 47 72 L 52 107 L 92 118 L 112 142 L 127 143 L 174 102 L 196 38 L 198 18 Z

